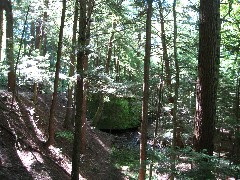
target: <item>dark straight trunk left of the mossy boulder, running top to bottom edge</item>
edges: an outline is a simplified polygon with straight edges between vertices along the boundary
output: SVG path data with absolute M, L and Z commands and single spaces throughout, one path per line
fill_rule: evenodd
M 80 151 L 82 140 L 82 113 L 83 113 L 83 78 L 84 78 L 84 59 L 85 59 L 85 44 L 86 44 L 86 28 L 87 28 L 87 2 L 82 0 L 80 4 L 79 17 L 79 34 L 78 34 L 78 54 L 77 54 L 77 90 L 76 90 L 76 116 L 75 116 L 75 131 L 73 140 L 72 152 L 72 172 L 71 179 L 79 179 Z

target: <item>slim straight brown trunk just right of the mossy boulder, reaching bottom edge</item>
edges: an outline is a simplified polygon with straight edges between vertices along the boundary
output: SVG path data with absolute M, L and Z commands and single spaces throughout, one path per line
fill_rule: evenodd
M 139 168 L 139 177 L 138 177 L 139 180 L 146 179 L 149 66 L 150 66 L 150 56 L 151 56 L 151 16 L 152 16 L 152 0 L 148 0 L 147 1 L 147 19 L 146 19 L 146 44 L 145 44 L 145 58 L 144 58 L 142 123 L 141 123 L 141 140 L 140 140 L 140 168 Z

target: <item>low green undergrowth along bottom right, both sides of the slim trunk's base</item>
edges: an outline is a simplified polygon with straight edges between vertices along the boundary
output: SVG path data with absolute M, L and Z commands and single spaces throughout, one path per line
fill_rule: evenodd
M 158 179 L 161 175 L 174 173 L 175 179 L 227 179 L 232 177 L 240 178 L 240 165 L 232 164 L 229 160 L 216 156 L 208 156 L 204 153 L 197 153 L 190 148 L 175 151 L 175 169 L 171 170 L 170 148 L 160 148 L 153 152 L 148 150 L 147 176 L 149 165 L 153 160 L 152 179 Z M 129 179 L 138 179 L 139 148 L 112 148 L 112 162 Z

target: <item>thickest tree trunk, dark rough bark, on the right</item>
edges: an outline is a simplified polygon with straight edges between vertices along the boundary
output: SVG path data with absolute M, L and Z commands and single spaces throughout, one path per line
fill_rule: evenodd
M 220 2 L 200 0 L 199 57 L 194 148 L 213 155 L 220 57 Z

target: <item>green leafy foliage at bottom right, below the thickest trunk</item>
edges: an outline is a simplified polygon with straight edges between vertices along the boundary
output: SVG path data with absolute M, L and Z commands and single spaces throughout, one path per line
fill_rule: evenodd
M 231 164 L 217 156 L 208 156 L 197 153 L 190 147 L 180 151 L 172 151 L 171 148 L 161 148 L 155 152 L 153 170 L 159 175 L 171 173 L 170 155 L 175 153 L 178 157 L 175 161 L 176 179 L 227 179 L 227 177 L 239 178 L 240 165 Z

